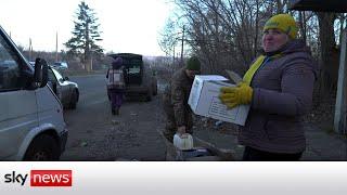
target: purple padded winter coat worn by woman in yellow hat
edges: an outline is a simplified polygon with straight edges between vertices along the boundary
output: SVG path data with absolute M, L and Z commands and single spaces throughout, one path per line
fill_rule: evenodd
M 300 116 L 311 108 L 317 64 L 301 40 L 290 41 L 281 53 L 253 77 L 250 110 L 239 142 L 265 152 L 294 154 L 306 148 Z

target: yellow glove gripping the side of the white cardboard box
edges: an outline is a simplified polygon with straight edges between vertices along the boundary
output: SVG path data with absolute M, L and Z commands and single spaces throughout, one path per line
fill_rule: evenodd
M 250 104 L 253 89 L 245 82 L 240 82 L 236 87 L 222 87 L 219 99 L 228 108 L 236 107 L 241 104 Z

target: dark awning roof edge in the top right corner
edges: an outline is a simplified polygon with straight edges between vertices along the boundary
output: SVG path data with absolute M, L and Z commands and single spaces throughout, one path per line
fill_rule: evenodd
M 290 0 L 290 9 L 298 11 L 347 13 L 347 0 Z

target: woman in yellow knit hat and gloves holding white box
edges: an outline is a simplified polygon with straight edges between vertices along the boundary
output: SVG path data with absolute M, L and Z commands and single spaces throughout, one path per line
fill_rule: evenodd
M 311 107 L 317 65 L 297 32 L 291 15 L 272 16 L 264 26 L 264 54 L 241 83 L 221 89 L 229 108 L 250 105 L 239 134 L 243 160 L 298 160 L 306 148 L 300 117 Z

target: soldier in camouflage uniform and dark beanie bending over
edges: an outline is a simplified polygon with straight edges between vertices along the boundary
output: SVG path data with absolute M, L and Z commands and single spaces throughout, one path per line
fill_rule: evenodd
M 192 110 L 188 105 L 189 94 L 194 81 L 195 75 L 200 74 L 201 63 L 196 56 L 187 61 L 185 67 L 176 72 L 166 88 L 163 96 L 164 110 L 167 116 L 167 122 L 164 135 L 172 142 L 176 132 L 193 133 Z

